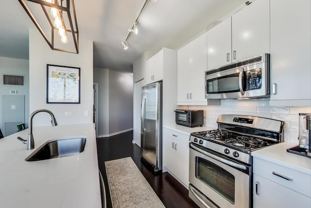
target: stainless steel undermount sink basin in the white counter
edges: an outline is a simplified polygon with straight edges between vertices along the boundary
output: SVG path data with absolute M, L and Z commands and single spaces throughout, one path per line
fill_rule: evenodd
M 38 161 L 79 154 L 84 151 L 85 145 L 86 138 L 83 137 L 52 139 L 37 148 L 25 160 Z

